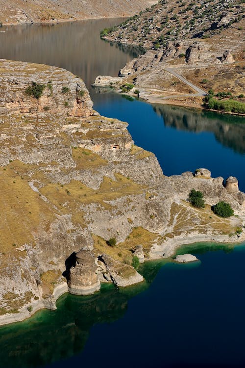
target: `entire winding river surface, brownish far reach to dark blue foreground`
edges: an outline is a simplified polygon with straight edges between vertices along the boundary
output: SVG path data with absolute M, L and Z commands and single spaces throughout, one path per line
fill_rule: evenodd
M 0 57 L 79 75 L 95 108 L 127 121 L 136 144 L 156 154 L 166 175 L 207 167 L 213 176 L 236 176 L 245 190 L 244 118 L 130 102 L 90 87 L 99 74 L 116 76 L 139 52 L 99 39 L 102 28 L 119 21 L 4 28 Z M 1 327 L 0 367 L 243 367 L 245 246 L 206 247 L 191 249 L 199 263 L 147 263 L 141 285 L 66 294 L 57 311 Z

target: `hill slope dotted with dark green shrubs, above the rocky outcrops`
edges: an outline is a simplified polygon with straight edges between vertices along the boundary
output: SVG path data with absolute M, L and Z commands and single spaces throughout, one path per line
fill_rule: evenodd
M 161 0 L 113 29 L 105 38 L 158 50 L 169 41 L 205 39 L 241 27 L 244 0 Z

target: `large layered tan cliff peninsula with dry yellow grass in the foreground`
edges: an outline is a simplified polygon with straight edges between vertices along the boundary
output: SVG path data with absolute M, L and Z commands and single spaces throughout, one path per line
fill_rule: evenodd
M 237 179 L 203 168 L 165 176 L 134 145 L 127 123 L 93 109 L 72 73 L 0 60 L 0 85 L 0 324 L 55 309 L 67 291 L 142 282 L 136 258 L 245 239 Z M 203 193 L 204 208 L 188 201 L 192 189 Z M 236 216 L 214 214 L 219 201 Z

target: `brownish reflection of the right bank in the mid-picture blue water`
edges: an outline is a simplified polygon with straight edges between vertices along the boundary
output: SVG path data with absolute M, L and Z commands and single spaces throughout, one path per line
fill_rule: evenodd
M 172 105 L 154 104 L 153 109 L 162 116 L 167 127 L 192 132 L 210 131 L 223 146 L 245 153 L 245 118 L 242 116 Z

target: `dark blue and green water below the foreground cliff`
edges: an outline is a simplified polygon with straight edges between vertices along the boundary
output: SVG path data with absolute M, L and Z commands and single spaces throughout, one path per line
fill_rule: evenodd
M 143 284 L 66 294 L 57 311 L 1 327 L 0 366 L 245 366 L 245 245 L 198 247 L 198 263 L 146 263 Z

